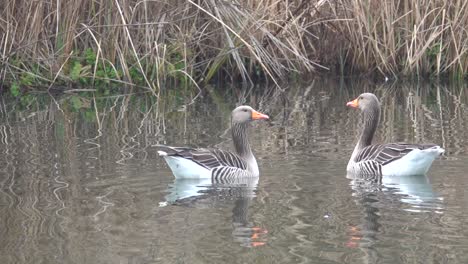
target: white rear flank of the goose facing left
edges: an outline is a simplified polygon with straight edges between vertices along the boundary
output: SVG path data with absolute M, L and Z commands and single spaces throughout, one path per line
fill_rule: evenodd
M 432 162 L 444 149 L 435 146 L 429 149 L 415 149 L 404 157 L 392 161 L 382 167 L 384 176 L 424 175 L 432 165 Z

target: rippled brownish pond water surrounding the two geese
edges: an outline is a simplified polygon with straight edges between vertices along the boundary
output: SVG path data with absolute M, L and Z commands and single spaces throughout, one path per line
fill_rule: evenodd
M 284 88 L 2 99 L 1 263 L 468 263 L 466 87 Z M 426 176 L 347 177 L 363 91 L 376 141 L 446 149 Z M 175 180 L 152 145 L 230 148 L 237 104 L 271 117 L 250 129 L 260 178 Z

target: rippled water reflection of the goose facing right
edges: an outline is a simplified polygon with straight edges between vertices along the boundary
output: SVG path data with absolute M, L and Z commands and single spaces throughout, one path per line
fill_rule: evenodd
M 249 221 L 249 207 L 256 197 L 258 177 L 238 179 L 174 179 L 169 185 L 165 201 L 160 206 L 179 205 L 196 208 L 226 206 L 234 200 L 232 209 L 232 237 L 245 247 L 266 244 L 268 231 Z

